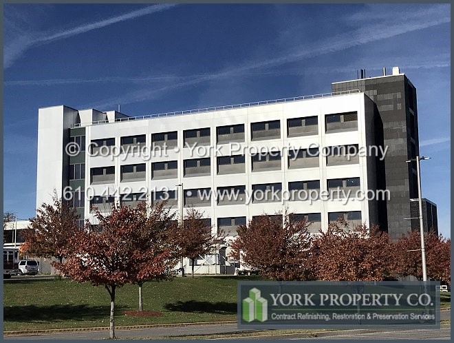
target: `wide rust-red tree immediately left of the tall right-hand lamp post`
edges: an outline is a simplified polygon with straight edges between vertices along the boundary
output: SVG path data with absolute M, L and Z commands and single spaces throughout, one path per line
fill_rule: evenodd
M 315 238 L 313 251 L 318 280 L 380 281 L 396 269 L 392 242 L 377 226 L 349 228 L 339 219 Z

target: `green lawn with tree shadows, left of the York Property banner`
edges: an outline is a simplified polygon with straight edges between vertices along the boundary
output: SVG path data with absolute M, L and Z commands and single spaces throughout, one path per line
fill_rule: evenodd
M 144 311 L 159 317 L 131 317 L 138 309 L 138 287 L 126 285 L 116 292 L 116 326 L 178 322 L 237 320 L 237 280 L 256 276 L 204 276 L 147 282 Z M 109 326 L 110 298 L 103 287 L 71 280 L 3 282 L 3 330 L 59 329 Z

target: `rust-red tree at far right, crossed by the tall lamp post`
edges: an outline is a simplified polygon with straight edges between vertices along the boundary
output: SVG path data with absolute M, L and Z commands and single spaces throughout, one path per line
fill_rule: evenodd
M 424 233 L 426 273 L 429 280 L 451 284 L 451 240 L 433 232 Z M 396 242 L 396 258 L 400 276 L 415 276 L 422 280 L 421 236 L 411 231 Z

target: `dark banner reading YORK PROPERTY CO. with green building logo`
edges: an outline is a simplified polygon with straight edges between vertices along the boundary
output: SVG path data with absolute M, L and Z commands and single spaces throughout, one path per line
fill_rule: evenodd
M 440 282 L 238 282 L 238 326 L 440 328 Z

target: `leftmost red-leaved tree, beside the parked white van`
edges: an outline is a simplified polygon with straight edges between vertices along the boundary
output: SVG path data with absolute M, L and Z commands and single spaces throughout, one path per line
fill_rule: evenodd
M 58 198 L 54 191 L 53 203 L 43 203 L 30 220 L 30 225 L 21 230 L 25 240 L 25 251 L 33 256 L 57 258 L 62 262 L 72 249 L 69 241 L 80 227 L 79 215 L 74 207 Z

